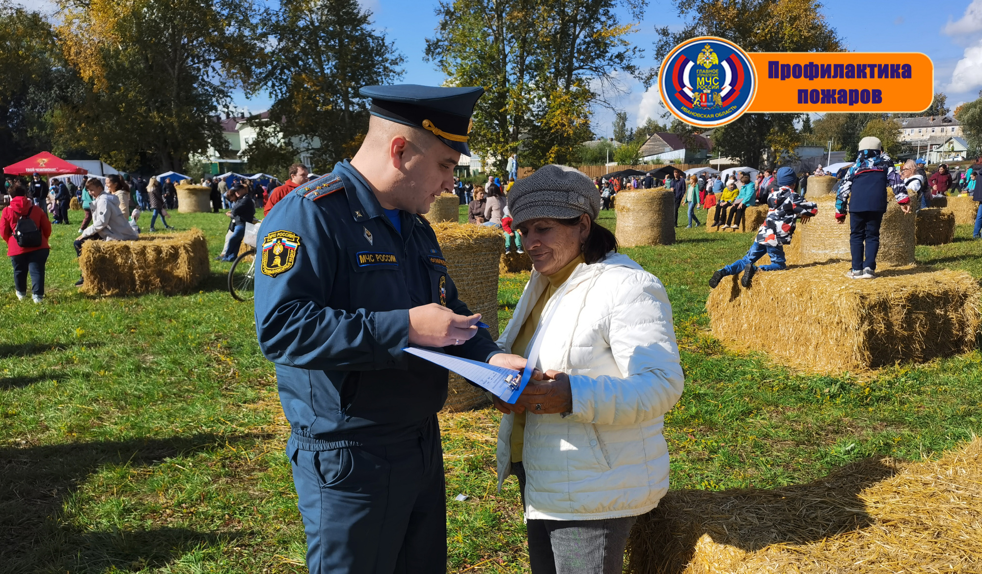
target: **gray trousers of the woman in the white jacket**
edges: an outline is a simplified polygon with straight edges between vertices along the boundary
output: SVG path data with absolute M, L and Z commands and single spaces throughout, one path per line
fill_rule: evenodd
M 525 505 L 525 468 L 512 463 Z M 528 520 L 532 574 L 622 574 L 624 547 L 636 516 L 603 520 Z

